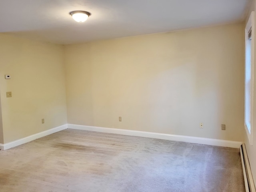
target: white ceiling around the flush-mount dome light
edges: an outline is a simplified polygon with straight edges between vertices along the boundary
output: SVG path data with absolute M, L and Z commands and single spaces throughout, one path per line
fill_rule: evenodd
M 242 22 L 251 0 L 0 0 L 0 32 L 58 44 Z M 68 14 L 85 10 L 84 23 Z

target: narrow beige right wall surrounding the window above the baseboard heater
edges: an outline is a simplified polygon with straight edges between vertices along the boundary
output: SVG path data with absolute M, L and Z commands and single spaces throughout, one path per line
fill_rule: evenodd
M 252 1 L 252 4 L 250 6 L 250 10 L 248 12 L 247 18 L 246 18 L 246 23 L 247 20 L 250 16 L 250 13 L 252 11 L 256 10 L 256 0 Z M 253 106 L 253 114 L 254 114 L 254 119 L 253 119 L 253 124 L 252 124 L 252 129 L 253 129 L 253 143 L 250 145 L 250 142 L 248 140 L 247 134 L 244 134 L 244 142 L 246 145 L 246 150 L 248 153 L 248 158 L 250 161 L 250 166 L 252 170 L 252 175 L 254 178 L 254 185 L 256 186 L 256 19 L 254 20 L 254 106 Z

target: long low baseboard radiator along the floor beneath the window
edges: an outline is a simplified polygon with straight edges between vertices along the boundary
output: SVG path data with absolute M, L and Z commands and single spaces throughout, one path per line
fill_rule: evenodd
M 246 152 L 245 145 L 242 144 L 240 147 L 240 155 L 241 155 L 241 161 L 242 161 L 242 167 L 243 167 L 243 173 L 244 173 L 244 185 L 246 192 L 256 192 L 253 178 L 252 178 L 252 172 Z

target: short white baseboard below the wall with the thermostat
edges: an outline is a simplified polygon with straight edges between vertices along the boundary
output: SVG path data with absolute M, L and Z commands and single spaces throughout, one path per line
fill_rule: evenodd
M 19 146 L 21 144 L 30 142 L 32 140 L 35 140 L 35 139 L 38 139 L 38 138 L 50 135 L 52 133 L 64 130 L 66 128 L 68 128 L 68 126 L 67 126 L 67 124 L 64 124 L 62 126 L 58 126 L 58 127 L 52 128 L 52 129 L 48 129 L 48 130 L 42 131 L 40 133 L 36 133 L 36 134 L 30 135 L 30 136 L 27 136 L 27 137 L 24 137 L 24 138 L 12 141 L 12 142 L 8 142 L 6 144 L 0 144 L 0 149 L 1 150 L 10 149 L 10 148 Z

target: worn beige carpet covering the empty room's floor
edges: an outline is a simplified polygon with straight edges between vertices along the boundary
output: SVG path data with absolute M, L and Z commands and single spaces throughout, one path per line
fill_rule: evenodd
M 244 192 L 239 149 L 63 130 L 0 150 L 0 192 Z

